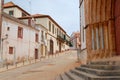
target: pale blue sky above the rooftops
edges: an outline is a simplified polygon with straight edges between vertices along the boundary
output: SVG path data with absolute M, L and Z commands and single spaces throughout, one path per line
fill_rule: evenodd
M 9 1 L 30 14 L 50 15 L 68 35 L 80 30 L 79 0 L 4 0 Z

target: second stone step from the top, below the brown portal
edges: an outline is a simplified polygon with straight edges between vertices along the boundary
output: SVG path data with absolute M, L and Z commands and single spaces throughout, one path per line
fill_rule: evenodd
M 120 66 L 118 65 L 81 65 L 81 67 L 87 67 L 92 69 L 99 69 L 99 70 L 120 70 Z

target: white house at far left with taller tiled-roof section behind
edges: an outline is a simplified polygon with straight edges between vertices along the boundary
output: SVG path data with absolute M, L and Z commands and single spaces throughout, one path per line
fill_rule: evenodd
M 10 63 L 39 59 L 39 30 L 32 24 L 33 20 L 26 24 L 17 19 L 30 14 L 12 2 L 3 7 L 1 58 Z

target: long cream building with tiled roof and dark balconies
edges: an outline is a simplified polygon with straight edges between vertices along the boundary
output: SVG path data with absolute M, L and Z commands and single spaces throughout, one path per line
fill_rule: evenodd
M 19 19 L 26 22 L 29 18 L 30 16 L 26 16 Z M 34 18 L 35 24 L 42 25 L 45 28 L 46 40 L 44 42 L 47 42 L 47 49 L 45 48 L 47 55 L 69 49 L 69 44 L 66 44 L 66 39 L 69 41 L 70 37 L 49 15 L 35 14 L 32 15 L 32 18 Z

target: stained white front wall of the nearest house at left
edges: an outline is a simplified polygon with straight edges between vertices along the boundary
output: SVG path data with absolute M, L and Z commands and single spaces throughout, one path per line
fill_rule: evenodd
M 23 28 L 23 38 L 18 38 L 18 27 Z M 8 61 L 35 58 L 35 49 L 39 47 L 38 42 L 35 41 L 35 34 L 38 32 L 38 30 L 4 13 L 2 22 L 2 39 L 4 39 L 2 41 L 2 58 Z M 8 38 L 5 39 L 6 34 Z M 12 54 L 9 53 L 10 47 L 13 48 Z

